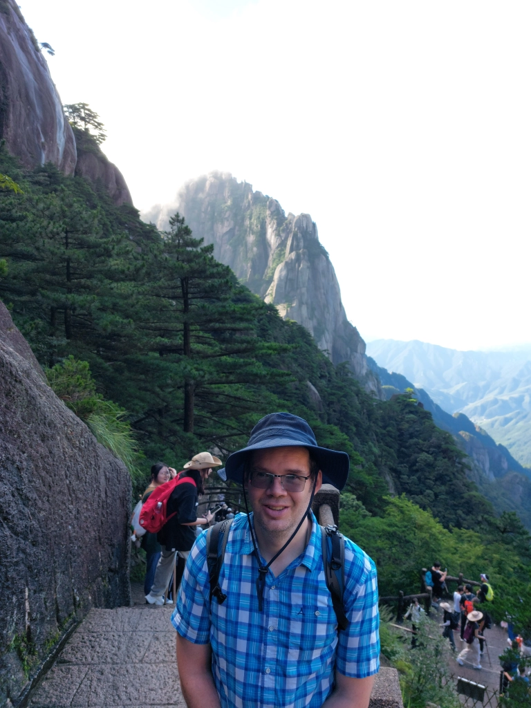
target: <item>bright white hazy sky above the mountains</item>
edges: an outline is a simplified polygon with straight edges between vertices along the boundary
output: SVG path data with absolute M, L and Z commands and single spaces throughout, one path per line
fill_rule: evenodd
M 366 339 L 531 341 L 528 1 L 19 1 L 139 209 L 230 171 L 312 215 Z

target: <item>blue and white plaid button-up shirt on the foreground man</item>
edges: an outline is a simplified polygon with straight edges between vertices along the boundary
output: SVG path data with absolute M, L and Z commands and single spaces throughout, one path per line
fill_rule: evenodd
M 219 605 L 213 599 L 210 606 L 203 532 L 188 557 L 171 617 L 185 639 L 212 645 L 212 674 L 222 708 L 320 708 L 333 690 L 334 669 L 354 678 L 377 673 L 376 569 L 358 546 L 346 539 L 343 603 L 349 624 L 339 634 L 315 517 L 304 554 L 278 578 L 268 572 L 263 612 L 258 611 L 257 577 L 247 517 L 239 514 L 219 574 L 227 600 Z

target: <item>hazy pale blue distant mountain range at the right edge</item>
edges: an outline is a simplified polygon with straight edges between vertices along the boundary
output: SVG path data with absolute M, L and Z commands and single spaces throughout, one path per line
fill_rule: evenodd
M 464 413 L 531 467 L 531 352 L 458 351 L 413 340 L 379 339 L 367 353 L 399 372 L 448 413 Z

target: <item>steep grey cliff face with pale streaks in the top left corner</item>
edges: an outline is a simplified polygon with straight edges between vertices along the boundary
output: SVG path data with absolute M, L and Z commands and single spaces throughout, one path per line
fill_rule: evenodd
M 0 2 L 0 138 L 25 167 L 76 166 L 72 128 L 33 33 L 15 0 Z

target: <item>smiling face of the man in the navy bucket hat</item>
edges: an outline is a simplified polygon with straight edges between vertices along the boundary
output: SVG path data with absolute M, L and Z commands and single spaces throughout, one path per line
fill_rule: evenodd
M 272 447 L 258 450 L 253 455 L 252 472 L 269 474 L 297 474 L 309 478 L 310 459 L 305 447 Z M 252 475 L 251 472 L 251 475 Z M 316 491 L 321 487 L 321 471 L 317 476 Z M 314 480 L 307 479 L 302 491 L 286 491 L 279 477 L 269 489 L 256 489 L 249 481 L 246 490 L 254 512 L 254 522 L 264 532 L 276 535 L 295 530 L 307 510 Z

